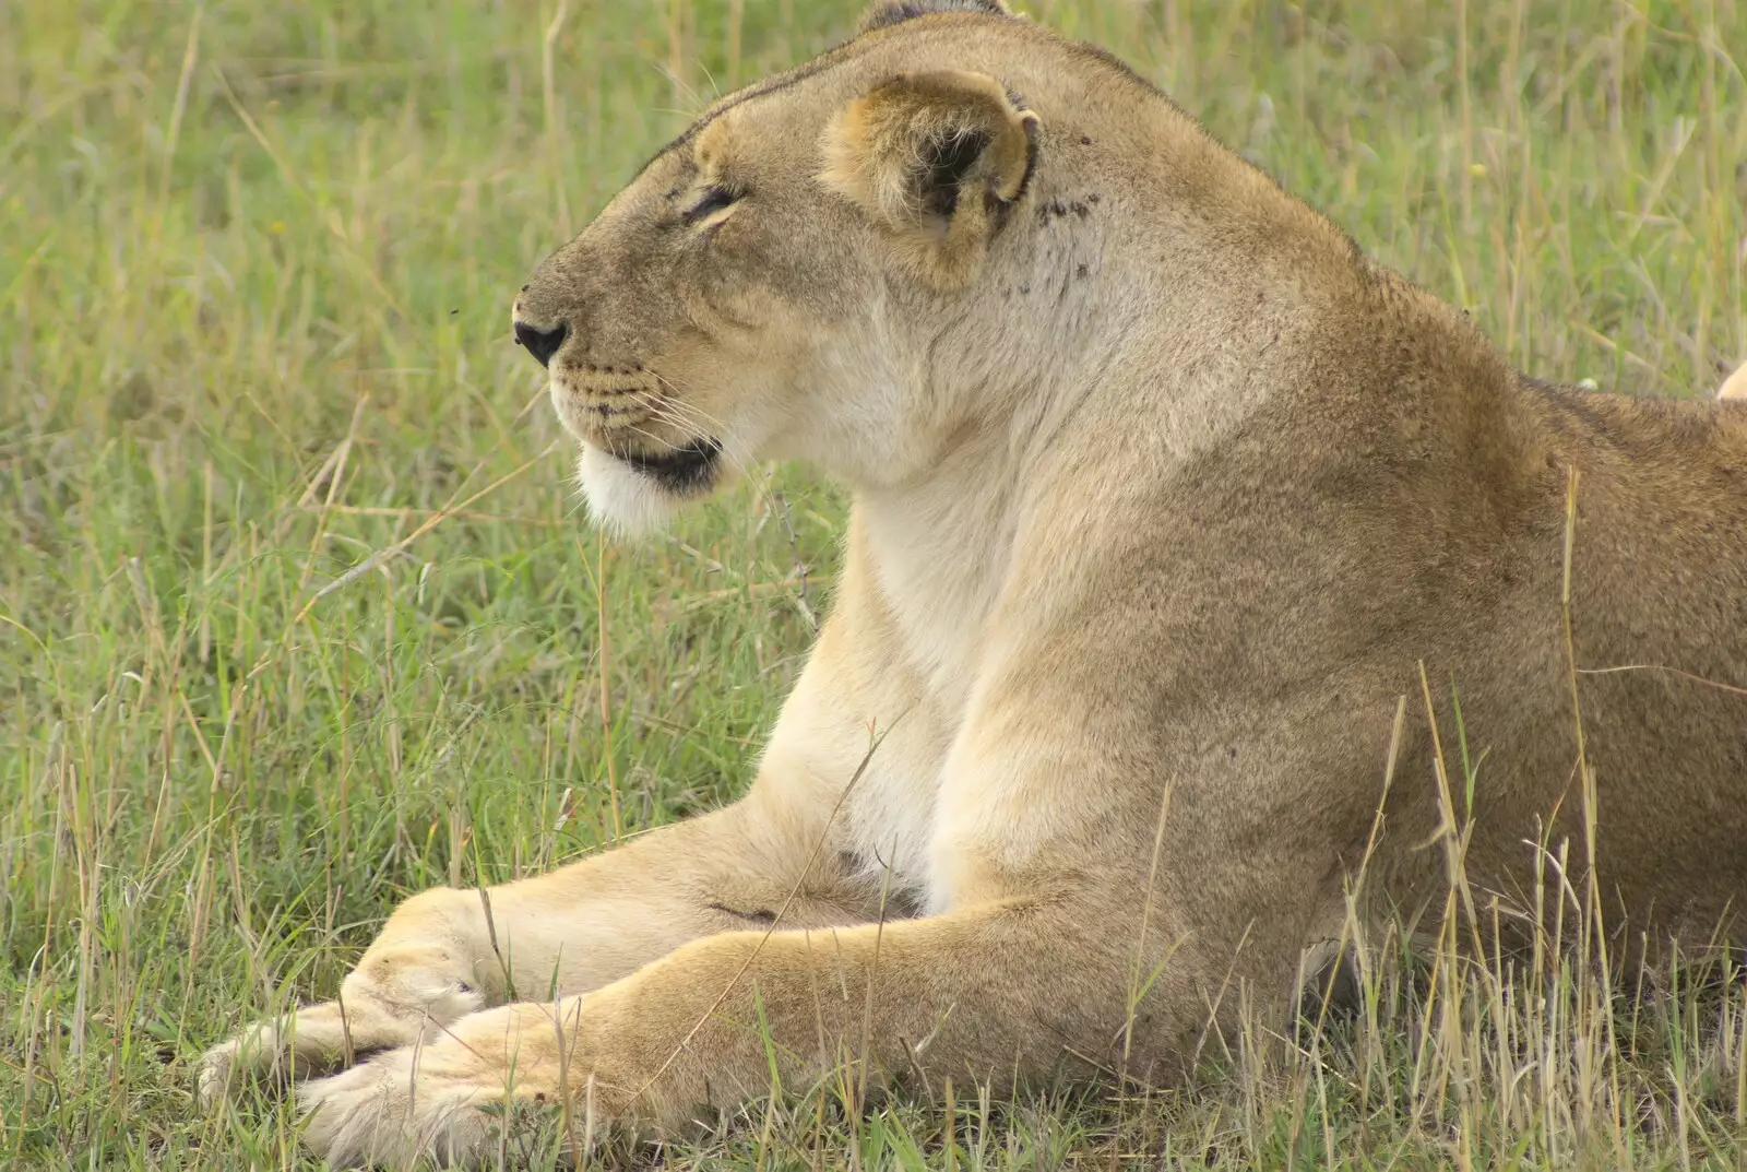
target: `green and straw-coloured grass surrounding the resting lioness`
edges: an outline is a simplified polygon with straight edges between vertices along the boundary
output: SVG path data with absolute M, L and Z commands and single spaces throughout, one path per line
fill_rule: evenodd
M 0 1163 L 306 1165 L 283 1106 L 194 1104 L 206 1044 L 332 996 L 412 891 L 749 781 L 842 496 L 770 470 L 603 548 L 508 300 L 688 112 L 856 7 L 0 5 Z M 1747 356 L 1742 0 L 1031 10 L 1536 374 L 1686 395 Z M 1249 1032 L 1186 1092 L 854 1120 L 798 1088 L 664 1160 L 1747 1160 L 1738 975 L 1625 996 L 1581 952 L 1401 950 L 1368 943 L 1356 1022 Z

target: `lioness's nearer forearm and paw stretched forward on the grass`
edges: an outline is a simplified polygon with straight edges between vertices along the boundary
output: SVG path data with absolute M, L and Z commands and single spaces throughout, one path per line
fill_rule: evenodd
M 667 1135 L 769 1093 L 772 1055 L 788 1086 L 863 1057 L 875 1081 L 935 1085 L 1087 1067 L 1116 1041 L 1125 990 L 1123 955 L 1087 922 L 1085 907 L 1012 901 L 699 940 L 592 994 L 477 1013 L 307 1083 L 306 1142 L 342 1167 L 475 1165 L 521 1104 L 568 1106 L 564 1142 Z

